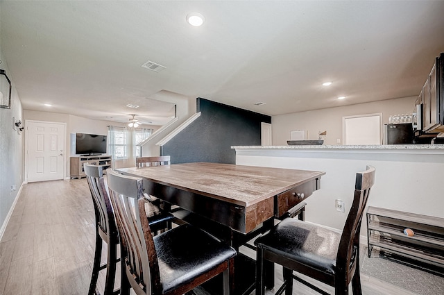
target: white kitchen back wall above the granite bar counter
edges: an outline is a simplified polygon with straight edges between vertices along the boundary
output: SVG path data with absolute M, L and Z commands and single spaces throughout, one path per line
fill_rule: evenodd
M 273 145 L 287 145 L 287 140 L 290 140 L 290 132 L 293 130 L 307 130 L 307 140 L 317 140 L 318 133 L 326 130 L 324 144 L 342 144 L 342 117 L 382 112 L 382 124 L 387 124 L 390 115 L 413 112 L 415 100 L 416 96 L 410 96 L 402 99 L 273 116 L 271 118 Z M 340 139 L 341 143 L 337 143 L 337 139 Z

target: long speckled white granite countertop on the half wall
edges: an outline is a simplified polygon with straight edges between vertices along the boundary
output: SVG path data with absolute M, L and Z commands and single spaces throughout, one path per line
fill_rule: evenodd
M 444 144 L 372 144 L 372 145 L 315 145 L 315 146 L 231 146 L 232 149 L 444 149 Z

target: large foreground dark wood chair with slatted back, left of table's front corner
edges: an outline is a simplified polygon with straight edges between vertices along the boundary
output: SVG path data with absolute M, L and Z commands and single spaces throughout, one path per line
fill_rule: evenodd
M 121 290 L 128 294 L 180 295 L 223 273 L 223 294 L 230 292 L 234 249 L 189 224 L 151 235 L 142 178 L 107 170 L 108 189 L 119 228 Z

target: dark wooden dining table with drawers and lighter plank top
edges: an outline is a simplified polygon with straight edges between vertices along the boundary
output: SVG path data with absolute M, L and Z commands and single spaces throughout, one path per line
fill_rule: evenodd
M 189 212 L 185 215 L 187 222 L 237 250 L 237 258 L 230 267 L 230 289 L 236 295 L 250 294 L 255 287 L 255 262 L 241 255 L 239 247 L 269 230 L 275 219 L 320 189 L 321 176 L 325 174 L 212 162 L 116 170 L 142 178 L 146 194 Z M 266 286 L 272 288 L 274 265 L 266 267 L 268 273 L 273 273 L 267 276 Z

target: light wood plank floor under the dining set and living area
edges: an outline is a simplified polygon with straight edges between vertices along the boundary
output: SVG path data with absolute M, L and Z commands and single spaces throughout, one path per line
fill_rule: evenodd
M 248 248 L 241 251 L 253 255 Z M 0 294 L 85 295 L 93 257 L 94 210 L 85 178 L 29 183 L 0 242 Z M 276 285 L 280 278 L 282 271 L 276 267 Z M 420 295 L 361 278 L 365 295 Z M 316 294 L 294 284 L 295 295 Z

